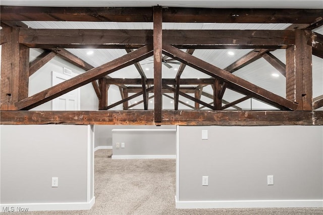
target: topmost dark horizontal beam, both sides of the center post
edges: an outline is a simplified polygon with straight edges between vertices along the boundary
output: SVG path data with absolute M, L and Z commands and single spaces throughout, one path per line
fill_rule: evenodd
M 306 23 L 322 19 L 317 9 L 213 9 L 165 7 L 164 22 L 175 23 Z M 2 21 L 153 22 L 151 7 L 1 6 Z

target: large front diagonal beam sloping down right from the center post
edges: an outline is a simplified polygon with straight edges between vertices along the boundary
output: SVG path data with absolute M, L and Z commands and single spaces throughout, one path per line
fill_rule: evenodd
M 187 54 L 171 45 L 163 45 L 163 52 L 180 62 L 186 63 L 187 65 L 202 71 L 202 73 L 205 73 L 206 75 L 219 79 L 220 81 L 227 82 L 230 88 L 234 88 L 242 94 L 251 95 L 253 98 L 259 99 L 260 101 L 271 104 L 277 108 L 283 110 L 295 110 L 298 106 L 292 101 L 262 89 L 248 81 L 228 73 L 228 71 Z

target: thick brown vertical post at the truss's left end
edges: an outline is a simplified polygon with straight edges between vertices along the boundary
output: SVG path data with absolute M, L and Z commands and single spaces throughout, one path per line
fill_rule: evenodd
M 1 110 L 15 110 L 15 103 L 28 97 L 29 48 L 20 45 L 19 28 L 5 27 L 2 33 Z

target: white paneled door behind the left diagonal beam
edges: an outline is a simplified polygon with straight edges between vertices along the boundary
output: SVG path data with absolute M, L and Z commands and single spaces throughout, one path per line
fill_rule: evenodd
M 75 77 L 52 71 L 52 86 Z M 80 110 L 80 88 L 52 100 L 52 110 Z

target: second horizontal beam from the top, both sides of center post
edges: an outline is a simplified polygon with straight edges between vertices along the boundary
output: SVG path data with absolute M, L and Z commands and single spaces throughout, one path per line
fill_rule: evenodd
M 286 48 L 292 30 L 163 30 L 163 41 L 179 48 Z M 21 29 L 30 48 L 139 48 L 153 42 L 152 30 Z M 190 52 L 192 52 L 189 50 Z

